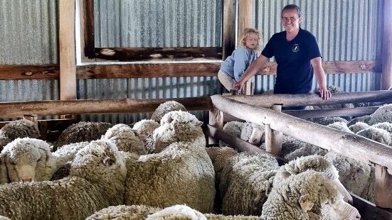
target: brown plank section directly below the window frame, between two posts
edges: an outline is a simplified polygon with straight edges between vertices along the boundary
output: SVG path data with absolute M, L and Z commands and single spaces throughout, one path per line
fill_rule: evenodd
M 89 65 L 78 67 L 78 79 L 216 76 L 219 63 Z

